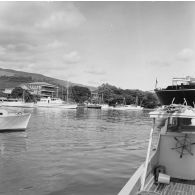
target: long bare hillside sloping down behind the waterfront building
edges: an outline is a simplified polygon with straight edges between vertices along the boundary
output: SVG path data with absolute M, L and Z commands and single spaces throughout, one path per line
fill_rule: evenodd
M 64 87 L 67 86 L 67 82 L 68 82 L 69 86 L 77 85 L 77 86 L 87 87 L 90 90 L 96 89 L 96 87 L 93 86 L 85 86 L 82 84 L 72 83 L 69 81 L 64 81 L 64 80 L 44 76 L 42 74 L 0 68 L 0 89 L 14 88 L 25 82 L 37 82 L 37 81 L 47 82 L 50 84 L 60 85 Z

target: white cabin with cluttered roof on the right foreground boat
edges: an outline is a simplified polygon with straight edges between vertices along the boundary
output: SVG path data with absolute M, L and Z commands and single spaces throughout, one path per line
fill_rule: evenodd
M 161 130 L 155 163 L 171 178 L 195 181 L 195 111 L 183 105 L 168 108 L 150 113 Z

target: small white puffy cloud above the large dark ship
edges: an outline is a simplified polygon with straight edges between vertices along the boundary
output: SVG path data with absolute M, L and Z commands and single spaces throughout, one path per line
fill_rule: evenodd
M 190 48 L 182 49 L 177 55 L 176 59 L 180 61 L 191 61 L 195 57 L 195 52 Z

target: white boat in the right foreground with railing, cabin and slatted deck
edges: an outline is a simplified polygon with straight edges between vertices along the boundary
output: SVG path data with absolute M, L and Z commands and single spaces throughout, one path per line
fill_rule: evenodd
M 195 194 L 195 109 L 170 105 L 150 113 L 153 127 L 145 163 L 118 195 Z M 151 152 L 153 131 L 160 130 Z

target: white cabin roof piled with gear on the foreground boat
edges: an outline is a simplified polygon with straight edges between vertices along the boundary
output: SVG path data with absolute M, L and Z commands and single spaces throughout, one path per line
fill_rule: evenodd
M 150 118 L 191 118 L 195 119 L 195 109 L 190 106 L 172 104 L 149 113 Z

